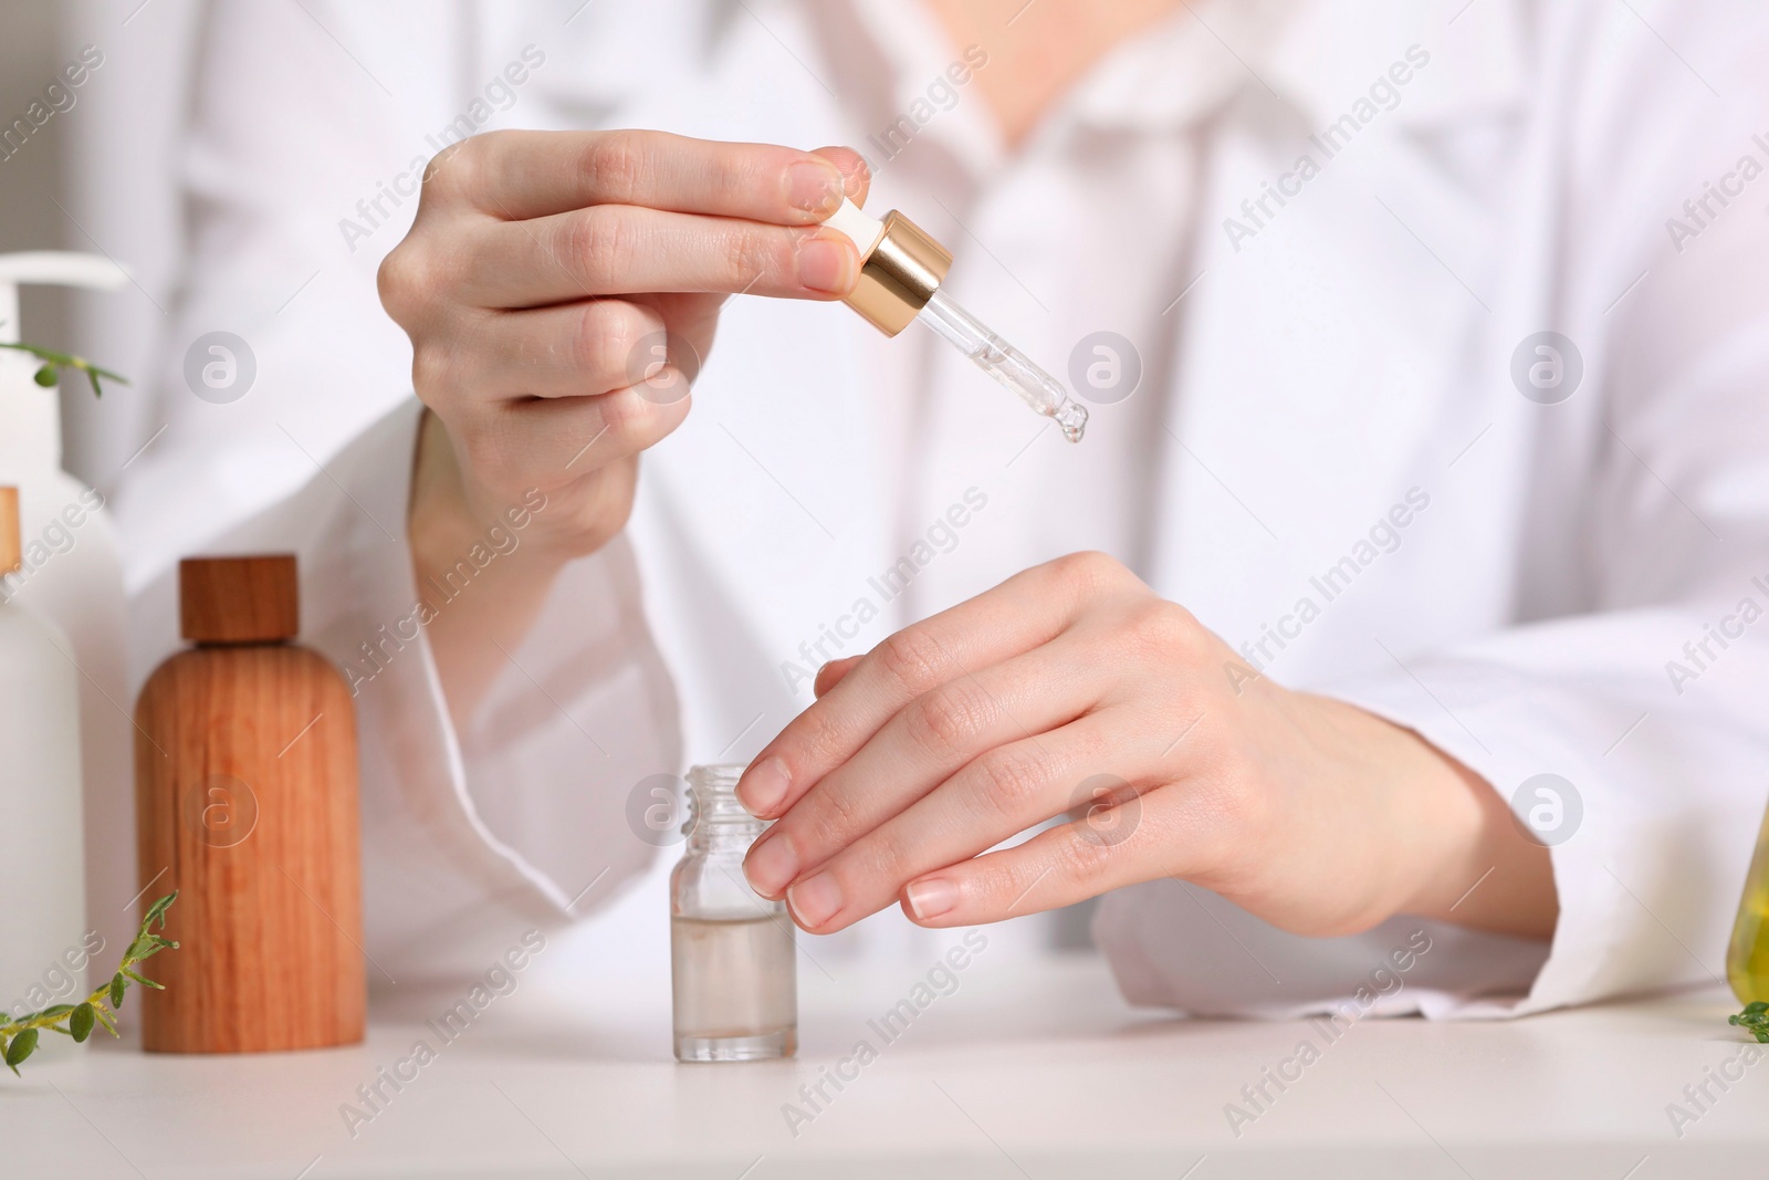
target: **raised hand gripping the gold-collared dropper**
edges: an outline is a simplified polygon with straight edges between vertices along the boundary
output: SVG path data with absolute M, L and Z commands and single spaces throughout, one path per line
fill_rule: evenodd
M 419 584 L 536 492 L 547 504 L 520 559 L 494 563 L 501 593 L 430 628 L 456 720 L 499 663 L 485 639 L 520 640 L 559 568 L 626 524 L 637 456 L 688 414 L 720 304 L 853 288 L 860 257 L 821 221 L 865 188 L 847 149 L 662 131 L 497 131 L 430 163 L 380 265 L 430 410 L 409 517 Z

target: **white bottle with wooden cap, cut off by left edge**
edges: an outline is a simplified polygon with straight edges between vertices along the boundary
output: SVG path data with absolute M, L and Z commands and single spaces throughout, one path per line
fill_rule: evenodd
M 0 1005 L 9 1015 L 81 984 L 80 672 L 53 623 L 14 601 L 18 488 L 0 488 Z M 44 1038 L 51 1040 L 51 1038 Z

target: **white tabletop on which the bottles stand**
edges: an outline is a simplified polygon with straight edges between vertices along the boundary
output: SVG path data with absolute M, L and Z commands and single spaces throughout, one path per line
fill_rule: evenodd
M 1769 1063 L 1723 1095 L 1709 1083 L 1718 1102 L 1681 1139 L 1666 1116 L 1744 1044 L 1718 989 L 1516 1023 L 1362 1021 L 1286 1092 L 1267 1083 L 1275 1100 L 1237 1138 L 1224 1106 L 1321 1033 L 1134 1012 L 1093 957 L 980 957 L 892 1044 L 867 1021 L 913 975 L 837 985 L 801 968 L 800 1056 L 759 1065 L 676 1065 L 667 992 L 598 1010 L 594 964 L 534 975 L 387 1088 L 356 1138 L 340 1106 L 416 1038 L 440 1044 L 421 1014 L 451 996 L 407 994 L 350 1049 L 67 1046 L 0 1081 L 0 1176 L 1769 1175 Z M 879 1058 L 826 1086 L 794 1138 L 782 1104 L 862 1037 Z

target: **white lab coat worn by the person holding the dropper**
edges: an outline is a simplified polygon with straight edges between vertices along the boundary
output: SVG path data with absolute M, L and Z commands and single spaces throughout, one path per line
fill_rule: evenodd
M 371 283 L 412 203 L 384 202 L 356 249 L 340 218 L 430 154 L 426 133 L 472 117 L 527 44 L 545 64 L 483 126 L 807 147 L 865 147 L 955 55 L 922 18 L 884 21 L 900 35 L 876 53 L 899 74 L 881 104 L 862 78 L 879 27 L 865 4 L 816 19 L 754 2 L 310 4 L 318 21 L 285 7 L 218 4 L 207 23 L 198 219 L 161 391 L 173 428 L 120 497 L 136 667 L 173 644 L 177 556 L 301 554 L 308 640 L 359 686 L 368 948 L 389 975 L 479 966 L 472 931 L 655 888 L 626 819 L 637 784 L 759 748 L 810 699 L 794 665 L 1083 547 L 1116 552 L 1275 679 L 1419 731 L 1505 798 L 1541 773 L 1576 793 L 1560 800 L 1578 814 L 1553 847 L 1551 948 L 1412 918 L 1300 939 L 1157 881 L 1106 899 L 1095 923 L 1130 1000 L 1323 1007 L 1421 927 L 1431 950 L 1403 987 L 1378 980 L 1376 1010 L 1516 1014 L 1723 973 L 1769 755 L 1769 623 L 1739 623 L 1744 600 L 1769 607 L 1769 182 L 1711 200 L 1700 225 L 1684 202 L 1725 175 L 1737 188 L 1748 154 L 1769 165 L 1755 7 L 1182 12 L 1210 30 L 1160 34 L 1189 46 L 1185 69 L 1088 83 L 1086 103 L 1146 101 L 1175 120 L 1152 134 L 1189 145 L 1180 188 L 1118 186 L 1095 200 L 1132 203 L 1107 212 L 1090 209 L 1084 157 L 1044 142 L 1056 133 L 1028 143 L 1030 165 L 989 159 L 971 189 L 962 168 L 915 165 L 916 143 L 874 207 L 900 196 L 957 249 L 966 303 L 1058 373 L 1081 334 L 1134 322 L 1150 382 L 1065 448 L 913 333 L 734 301 L 693 414 L 644 460 L 630 527 L 568 571 L 463 732 L 405 623 L 417 407 Z M 1429 67 L 1359 120 L 1412 46 Z M 1201 115 L 1185 111 L 1194 76 L 1219 88 Z M 923 154 L 987 154 L 980 108 L 941 113 Z M 1348 113 L 1350 145 L 1311 147 Z M 1318 175 L 1286 180 L 1306 152 Z M 927 205 L 943 177 L 962 214 Z M 1267 184 L 1291 196 L 1254 216 L 1244 202 Z M 1673 241 L 1670 218 L 1698 232 Z M 1093 274 L 1099 257 L 1111 265 Z M 262 387 L 230 407 L 177 377 L 212 327 L 258 354 Z M 1541 331 L 1581 357 L 1553 405 L 1512 380 Z M 1525 350 L 1523 372 L 1539 359 Z M 989 508 L 916 563 L 915 593 L 869 589 L 969 488 Z M 860 598 L 879 617 L 847 635 Z M 1709 626 L 1742 637 L 1686 655 Z M 902 925 L 867 925 L 884 923 Z

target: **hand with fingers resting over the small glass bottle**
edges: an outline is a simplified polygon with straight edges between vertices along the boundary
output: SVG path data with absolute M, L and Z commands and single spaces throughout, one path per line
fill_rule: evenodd
M 778 817 L 745 872 L 807 931 L 899 899 L 929 927 L 996 922 L 1160 877 L 1297 934 L 1396 913 L 1553 931 L 1548 851 L 1484 780 L 1256 676 L 1100 554 L 831 663 L 817 693 L 738 784 Z

